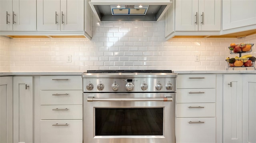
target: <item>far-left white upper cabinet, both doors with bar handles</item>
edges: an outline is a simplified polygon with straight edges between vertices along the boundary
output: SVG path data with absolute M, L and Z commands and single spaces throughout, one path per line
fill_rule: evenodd
M 0 0 L 0 31 L 36 31 L 36 0 Z

